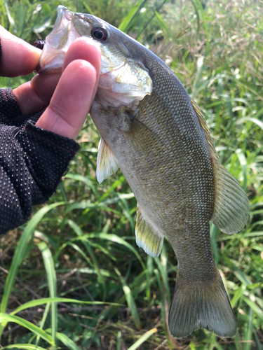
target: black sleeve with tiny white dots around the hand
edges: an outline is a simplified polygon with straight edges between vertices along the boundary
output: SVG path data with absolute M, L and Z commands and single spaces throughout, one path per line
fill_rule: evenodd
M 0 233 L 48 200 L 79 151 L 72 139 L 36 127 L 40 116 L 22 116 L 12 90 L 0 90 Z

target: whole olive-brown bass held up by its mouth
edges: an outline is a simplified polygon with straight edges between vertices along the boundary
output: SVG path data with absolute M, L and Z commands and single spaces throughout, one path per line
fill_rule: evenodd
M 168 325 L 175 338 L 205 328 L 236 335 L 236 320 L 210 242 L 211 221 L 227 235 L 248 222 L 248 197 L 223 167 L 197 104 L 153 52 L 93 15 L 58 6 L 39 73 L 61 71 L 80 36 L 102 62 L 90 116 L 100 133 L 97 180 L 121 169 L 137 200 L 136 243 L 152 257 L 163 239 L 177 258 Z

